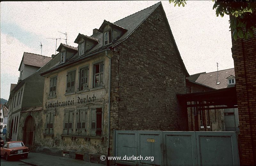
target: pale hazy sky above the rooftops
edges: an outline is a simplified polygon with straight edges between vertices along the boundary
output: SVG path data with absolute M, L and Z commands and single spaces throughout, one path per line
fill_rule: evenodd
M 51 57 L 60 43 L 77 47 L 78 33 L 91 36 L 103 20 L 115 22 L 159 1 L 43 1 L 0 3 L 1 98 L 17 83 L 24 52 Z M 213 2 L 187 1 L 174 7 L 161 1 L 181 58 L 190 75 L 234 67 L 229 16 L 216 17 Z M 61 32 L 61 33 L 60 33 Z

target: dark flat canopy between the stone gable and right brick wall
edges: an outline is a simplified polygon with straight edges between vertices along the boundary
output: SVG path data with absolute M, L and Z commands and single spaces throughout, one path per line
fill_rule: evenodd
M 237 108 L 236 87 L 177 94 L 177 98 L 183 106 L 186 105 L 184 107 L 201 107 L 203 110 Z

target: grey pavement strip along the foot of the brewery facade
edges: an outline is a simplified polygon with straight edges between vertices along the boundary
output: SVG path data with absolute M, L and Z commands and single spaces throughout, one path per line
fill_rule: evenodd
M 72 166 L 103 166 L 101 164 L 84 162 L 75 159 L 69 159 L 64 157 L 52 156 L 41 153 L 29 153 L 28 158 L 21 158 L 20 162 L 33 166 L 61 166 L 61 165 L 72 165 Z

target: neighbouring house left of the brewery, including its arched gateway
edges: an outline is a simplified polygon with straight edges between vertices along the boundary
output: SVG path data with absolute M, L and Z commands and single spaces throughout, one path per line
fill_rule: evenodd
M 57 59 L 57 60 L 56 60 Z M 34 144 L 34 137 L 41 134 L 36 129 L 42 125 L 40 122 L 44 78 L 39 75 L 59 61 L 59 57 L 46 57 L 24 52 L 20 63 L 20 78 L 9 96 L 8 140 L 23 140 L 26 146 Z M 29 112 L 27 111 L 28 108 Z M 39 121 L 36 121 L 39 119 Z

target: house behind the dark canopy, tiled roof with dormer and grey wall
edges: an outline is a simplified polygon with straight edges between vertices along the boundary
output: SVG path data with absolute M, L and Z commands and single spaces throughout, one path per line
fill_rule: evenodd
M 236 84 L 235 69 L 225 69 L 210 73 L 198 73 L 187 77 L 213 89 L 224 89 L 234 87 Z M 219 110 L 222 116 L 223 131 L 239 131 L 238 108 L 226 108 Z M 224 125 L 225 124 L 225 125 Z

